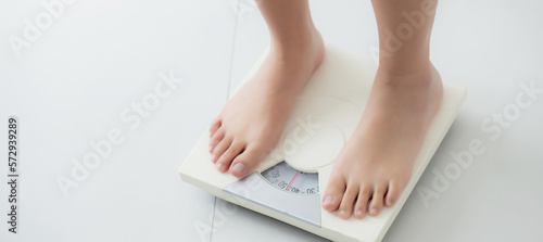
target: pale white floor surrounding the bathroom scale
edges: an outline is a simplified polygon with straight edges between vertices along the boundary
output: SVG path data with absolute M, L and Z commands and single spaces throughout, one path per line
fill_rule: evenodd
M 177 174 L 268 44 L 254 2 L 62 5 L 48 18 L 39 1 L 0 1 L 0 124 L 20 118 L 22 174 L 17 234 L 0 216 L 0 241 L 326 241 Z M 312 10 L 327 41 L 375 54 L 369 1 L 314 0 Z M 383 241 L 543 241 L 542 10 L 535 0 L 441 2 L 432 60 L 444 78 L 468 86 L 468 99 Z M 17 50 L 14 38 L 28 42 Z M 156 85 L 174 88 L 152 102 Z M 526 94 L 530 86 L 540 91 Z M 132 110 L 142 102 L 141 113 Z M 492 120 L 500 113 L 502 126 Z M 97 156 L 89 143 L 115 131 L 121 141 Z M 473 142 L 483 151 L 457 165 L 454 155 Z M 91 156 L 100 160 L 93 169 L 73 174 Z M 59 179 L 78 187 L 63 192 Z M 8 195 L 4 183 L 0 211 Z

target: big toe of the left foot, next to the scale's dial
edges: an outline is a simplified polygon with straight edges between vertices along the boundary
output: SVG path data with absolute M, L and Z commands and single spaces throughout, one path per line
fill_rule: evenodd
M 266 150 L 261 145 L 250 145 L 230 165 L 230 174 L 236 177 L 243 177 L 251 173 L 266 154 Z

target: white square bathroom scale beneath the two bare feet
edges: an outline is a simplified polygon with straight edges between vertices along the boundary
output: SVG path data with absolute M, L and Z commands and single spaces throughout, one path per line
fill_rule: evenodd
M 245 80 L 258 69 L 266 54 Z M 205 131 L 179 167 L 181 179 L 332 241 L 381 241 L 451 127 L 466 99 L 466 87 L 443 80 L 441 107 L 397 202 L 383 207 L 376 217 L 345 220 L 320 206 L 321 195 L 333 160 L 362 117 L 376 71 L 370 55 L 327 44 L 325 59 L 296 100 L 279 143 L 253 173 L 242 179 L 219 173 L 211 162 Z

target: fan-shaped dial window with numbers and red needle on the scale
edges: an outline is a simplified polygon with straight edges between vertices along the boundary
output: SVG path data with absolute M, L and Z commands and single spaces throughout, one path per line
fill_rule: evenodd
M 286 162 L 264 170 L 261 175 L 279 190 L 295 194 L 318 194 L 318 174 L 296 170 Z

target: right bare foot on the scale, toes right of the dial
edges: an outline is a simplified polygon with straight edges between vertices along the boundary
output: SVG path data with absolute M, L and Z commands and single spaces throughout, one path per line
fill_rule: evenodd
M 379 68 L 364 115 L 336 160 L 323 207 L 341 218 L 363 218 L 392 206 L 409 181 L 442 97 L 431 63 L 400 75 Z

